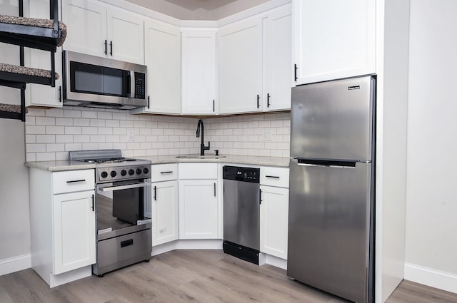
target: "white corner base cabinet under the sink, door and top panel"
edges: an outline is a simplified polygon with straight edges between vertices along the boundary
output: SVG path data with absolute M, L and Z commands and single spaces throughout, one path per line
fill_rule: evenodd
M 217 239 L 217 163 L 179 163 L 179 239 Z

